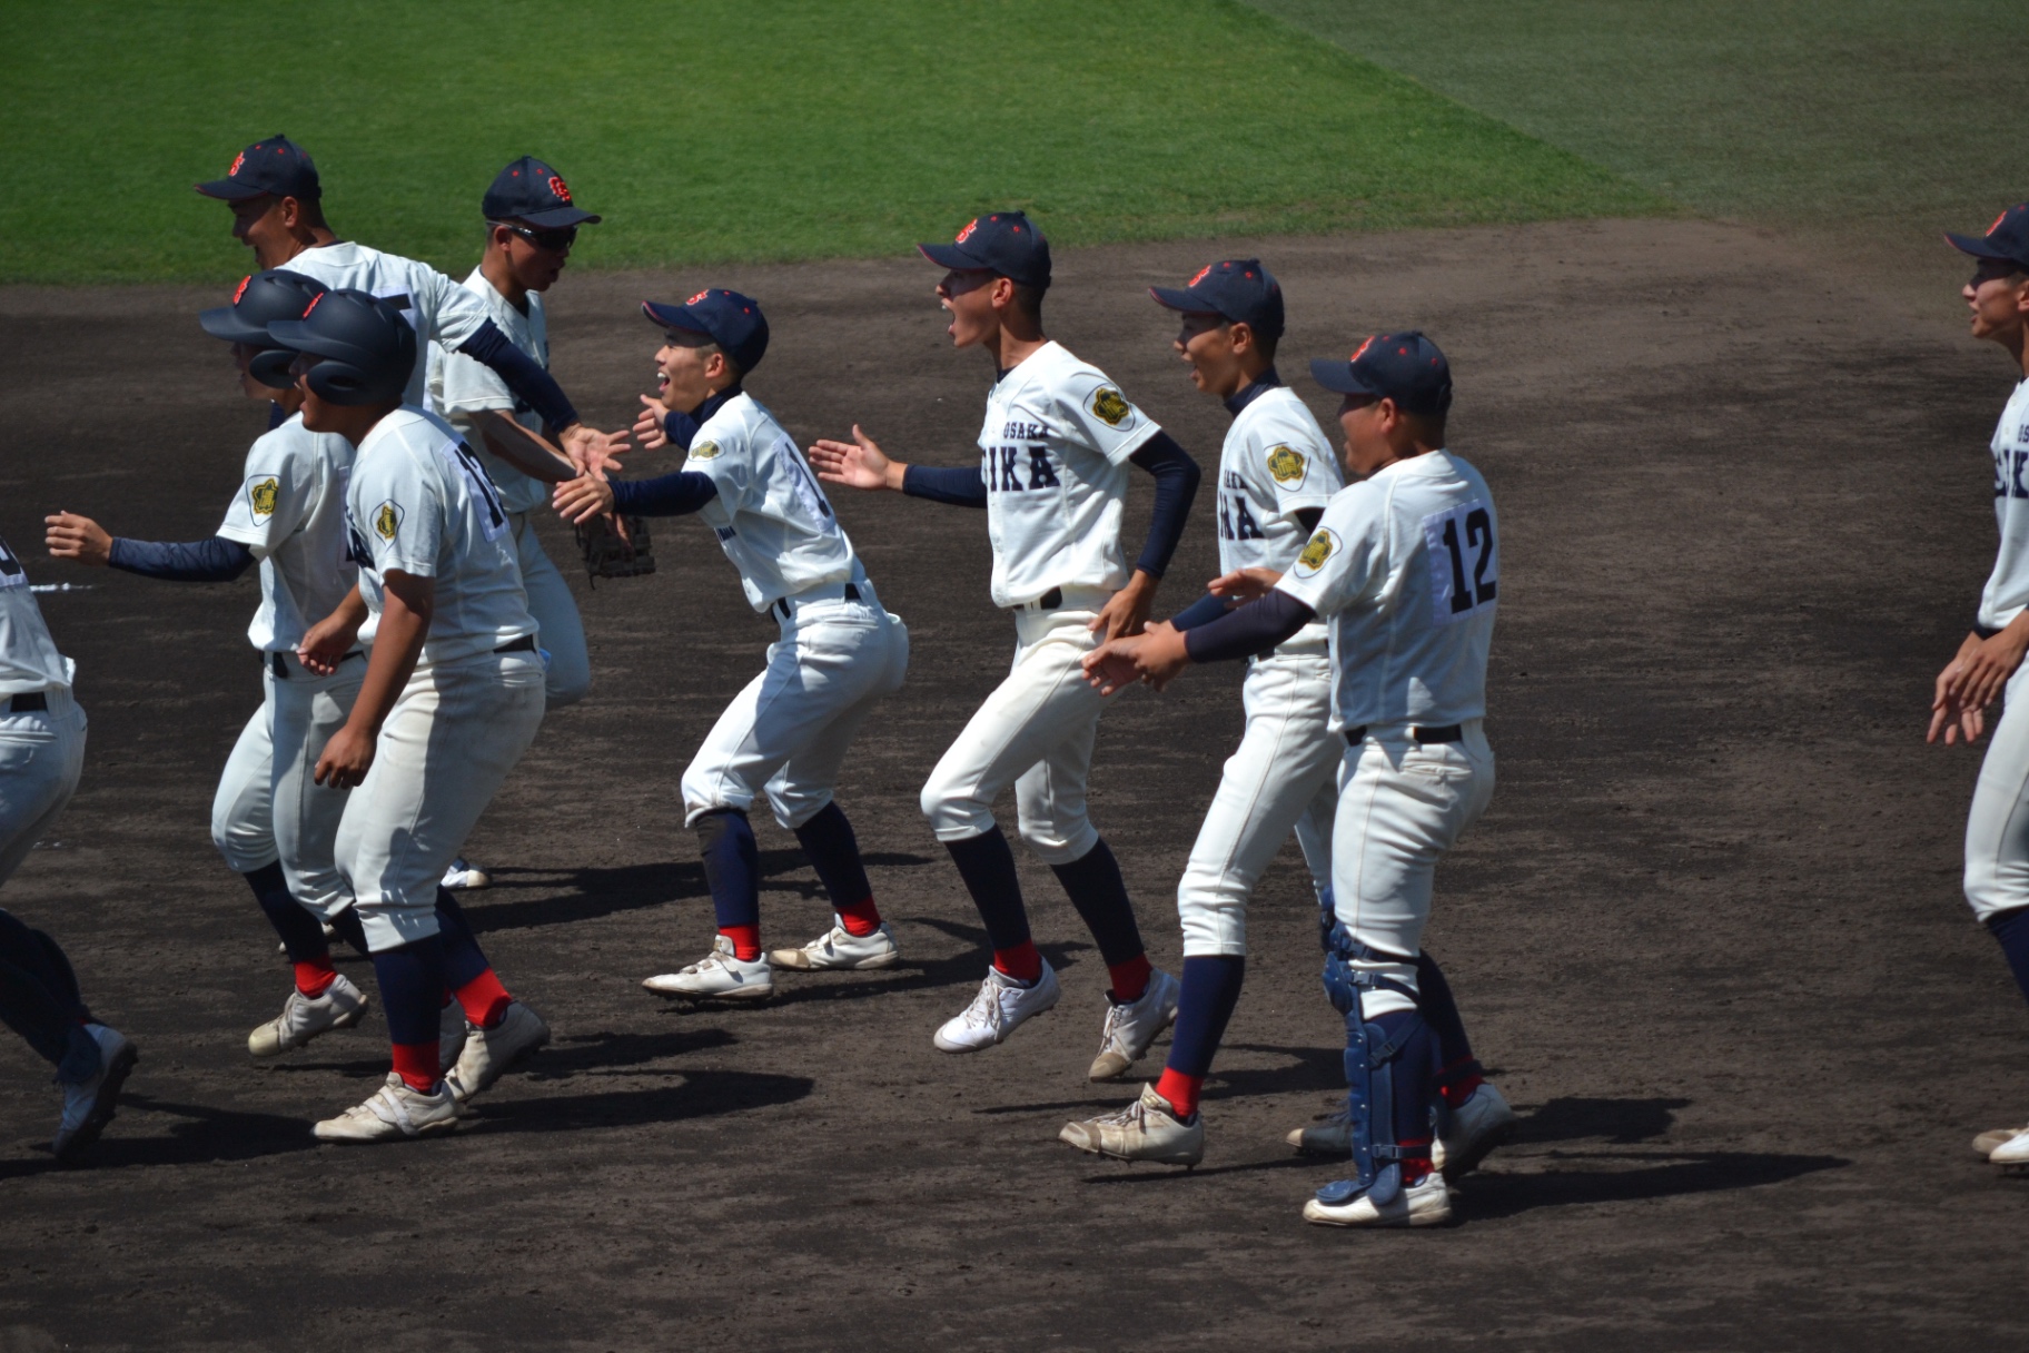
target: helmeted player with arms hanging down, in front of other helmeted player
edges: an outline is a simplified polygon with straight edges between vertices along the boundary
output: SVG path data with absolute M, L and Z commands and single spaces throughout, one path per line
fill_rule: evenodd
M 355 448 L 345 513 L 359 582 L 310 627 L 300 657 L 312 671 L 335 671 L 373 627 L 359 694 L 312 779 L 359 787 L 335 856 L 373 953 L 394 1071 L 314 1134 L 381 1142 L 448 1132 L 463 1101 L 550 1037 L 483 966 L 438 886 L 542 722 L 536 621 L 507 509 L 479 458 L 450 424 L 404 402 L 416 331 L 402 312 L 367 292 L 333 290 L 268 333 L 296 353 L 302 424 Z M 444 990 L 469 1018 L 448 1077 L 438 1047 Z

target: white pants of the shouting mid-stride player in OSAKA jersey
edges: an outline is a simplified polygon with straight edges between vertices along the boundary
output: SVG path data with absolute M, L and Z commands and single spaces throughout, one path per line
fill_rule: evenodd
M 994 799 L 1014 785 L 1021 838 L 1045 864 L 1071 864 L 1100 842 L 1086 815 L 1092 742 L 1106 698 L 1079 659 L 1086 629 L 1112 592 L 1065 588 L 1057 611 L 1014 611 L 1014 665 L 986 696 L 923 785 L 923 815 L 939 842 L 994 830 Z

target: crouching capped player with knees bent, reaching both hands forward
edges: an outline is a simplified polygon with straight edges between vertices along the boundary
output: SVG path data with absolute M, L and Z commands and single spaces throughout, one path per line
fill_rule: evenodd
M 734 696 L 684 771 L 684 826 L 696 828 L 718 935 L 682 972 L 645 980 L 659 996 L 767 1000 L 771 968 L 887 968 L 901 951 L 881 921 L 852 824 L 832 799 L 838 769 L 874 704 L 901 690 L 909 631 L 874 596 L 824 489 L 795 442 L 741 381 L 767 353 L 751 296 L 706 288 L 684 304 L 643 302 L 663 329 L 655 353 L 661 436 L 688 469 L 556 487 L 570 521 L 597 513 L 698 513 L 741 572 L 747 602 L 781 627 L 767 667 Z M 832 899 L 832 929 L 799 949 L 761 953 L 761 860 L 747 813 L 767 797 Z

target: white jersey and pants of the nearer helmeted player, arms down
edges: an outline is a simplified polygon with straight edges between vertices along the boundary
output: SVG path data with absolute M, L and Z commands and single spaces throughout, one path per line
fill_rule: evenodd
M 345 511 L 375 623 L 390 572 L 436 584 L 416 671 L 339 822 L 339 872 L 379 951 L 436 933 L 444 866 L 542 724 L 542 661 L 513 523 L 450 424 L 412 406 L 373 424 Z

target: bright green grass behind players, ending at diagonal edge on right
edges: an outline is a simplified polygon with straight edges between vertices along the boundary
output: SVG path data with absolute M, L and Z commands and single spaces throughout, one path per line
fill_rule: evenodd
M 580 266 L 868 256 L 1021 205 L 1053 239 L 1668 211 L 1656 193 L 1232 0 L 8 4 L 0 282 L 225 278 L 191 193 L 317 156 L 333 225 L 465 268 L 550 158 Z

